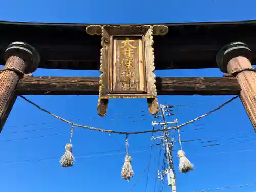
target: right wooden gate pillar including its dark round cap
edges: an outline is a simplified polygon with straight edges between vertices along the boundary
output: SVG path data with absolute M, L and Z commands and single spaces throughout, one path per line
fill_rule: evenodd
M 256 131 L 256 72 L 251 66 L 252 54 L 242 42 L 224 46 L 217 54 L 220 70 L 237 78 L 240 84 L 240 99 Z

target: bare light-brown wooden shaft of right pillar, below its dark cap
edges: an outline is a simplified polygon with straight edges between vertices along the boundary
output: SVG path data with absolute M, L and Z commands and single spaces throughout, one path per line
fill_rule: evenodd
M 236 57 L 228 62 L 227 71 L 231 74 L 242 68 L 252 68 L 250 61 L 245 57 Z M 236 78 L 241 86 L 240 99 L 256 131 L 256 73 L 242 71 Z

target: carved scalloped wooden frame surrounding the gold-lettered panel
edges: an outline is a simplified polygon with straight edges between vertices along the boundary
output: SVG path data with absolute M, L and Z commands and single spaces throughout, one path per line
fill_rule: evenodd
M 90 25 L 86 28 L 86 32 L 90 35 L 101 35 L 98 114 L 100 116 L 106 114 L 109 98 L 147 98 L 150 113 L 156 114 L 159 106 L 156 98 L 153 35 L 165 35 L 168 27 L 164 25 Z M 111 69 L 112 64 L 113 36 L 143 37 L 147 93 L 131 94 L 131 96 L 110 93 L 110 71 L 108 70 Z

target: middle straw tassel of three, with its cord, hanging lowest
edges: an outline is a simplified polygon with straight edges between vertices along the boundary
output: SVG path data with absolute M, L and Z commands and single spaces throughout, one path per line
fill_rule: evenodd
M 131 165 L 132 157 L 128 154 L 128 135 L 126 135 L 126 156 L 124 158 L 124 165 L 122 167 L 121 177 L 125 180 L 130 180 L 133 177 L 133 169 Z

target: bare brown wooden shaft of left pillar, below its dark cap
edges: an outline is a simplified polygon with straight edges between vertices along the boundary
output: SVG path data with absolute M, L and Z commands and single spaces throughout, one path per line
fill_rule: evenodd
M 14 68 L 21 72 L 24 72 L 26 67 L 24 60 L 17 56 L 9 57 L 5 65 L 5 68 Z M 20 78 L 14 71 L 5 70 L 0 73 L 0 132 L 17 98 L 15 88 Z

